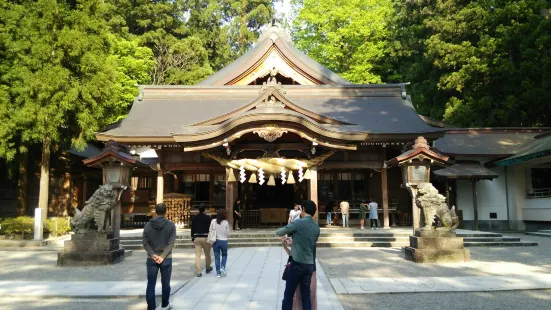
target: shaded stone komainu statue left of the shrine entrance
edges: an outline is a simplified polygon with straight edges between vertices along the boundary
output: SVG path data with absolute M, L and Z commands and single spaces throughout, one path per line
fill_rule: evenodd
M 94 195 L 86 201 L 82 211 L 76 209 L 75 216 L 71 219 L 71 229 L 75 233 L 90 231 L 90 226 L 95 223 L 98 232 L 104 232 L 107 228 L 107 213 L 115 207 L 117 194 L 110 184 L 101 185 Z

